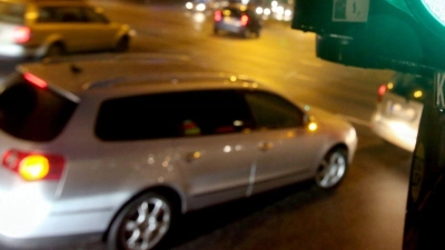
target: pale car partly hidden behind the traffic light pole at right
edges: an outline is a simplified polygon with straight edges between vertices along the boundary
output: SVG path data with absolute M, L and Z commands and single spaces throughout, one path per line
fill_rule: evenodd
M 384 140 L 413 152 L 426 88 L 433 88 L 432 79 L 395 73 L 378 89 L 376 110 L 370 119 L 372 130 Z

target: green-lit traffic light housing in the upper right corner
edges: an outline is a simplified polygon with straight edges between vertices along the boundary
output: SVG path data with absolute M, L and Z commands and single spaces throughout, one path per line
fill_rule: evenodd
M 291 27 L 317 33 L 316 54 L 347 66 L 445 69 L 444 0 L 295 0 Z

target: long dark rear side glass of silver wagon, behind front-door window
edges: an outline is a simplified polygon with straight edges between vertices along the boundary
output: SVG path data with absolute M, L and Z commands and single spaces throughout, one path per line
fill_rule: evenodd
M 188 91 L 105 101 L 96 134 L 105 141 L 209 136 L 251 126 L 249 110 L 235 91 Z

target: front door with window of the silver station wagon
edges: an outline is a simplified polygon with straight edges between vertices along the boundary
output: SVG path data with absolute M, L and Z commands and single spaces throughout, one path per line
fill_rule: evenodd
M 258 152 L 254 193 L 296 182 L 315 168 L 317 146 L 305 126 L 304 112 L 269 92 L 246 92 L 256 122 Z

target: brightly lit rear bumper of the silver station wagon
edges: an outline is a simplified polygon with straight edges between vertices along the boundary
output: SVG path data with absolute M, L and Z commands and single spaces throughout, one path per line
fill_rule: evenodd
M 13 209 L 0 201 L 0 249 L 69 246 L 70 238 L 81 236 L 90 241 L 91 234 L 102 236 L 115 212 L 111 208 L 55 212 L 52 206 L 32 203 Z

